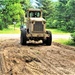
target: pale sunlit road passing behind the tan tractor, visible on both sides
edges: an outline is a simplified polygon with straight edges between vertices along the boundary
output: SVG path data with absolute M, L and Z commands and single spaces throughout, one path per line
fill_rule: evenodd
M 20 34 L 0 34 L 0 39 L 19 39 Z M 53 40 L 55 39 L 69 39 L 71 38 L 70 34 L 53 34 L 52 35 Z

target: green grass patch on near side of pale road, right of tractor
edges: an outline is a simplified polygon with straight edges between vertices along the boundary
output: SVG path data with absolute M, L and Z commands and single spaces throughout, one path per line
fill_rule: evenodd
M 75 46 L 75 42 L 71 39 L 56 39 L 54 42 L 61 43 L 63 45 Z

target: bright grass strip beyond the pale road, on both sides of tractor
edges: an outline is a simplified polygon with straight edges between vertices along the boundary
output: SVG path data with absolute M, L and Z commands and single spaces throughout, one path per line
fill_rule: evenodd
M 65 31 L 61 31 L 59 29 L 46 29 L 48 31 L 51 31 L 52 34 L 70 34 Z M 0 30 L 0 34 L 19 34 L 20 33 L 20 26 L 19 24 L 16 25 L 14 30 L 14 25 L 9 25 L 8 29 Z

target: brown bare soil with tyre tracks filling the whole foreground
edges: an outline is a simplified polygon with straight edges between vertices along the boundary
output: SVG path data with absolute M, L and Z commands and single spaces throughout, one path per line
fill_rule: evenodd
M 0 40 L 0 75 L 75 75 L 75 47 Z

